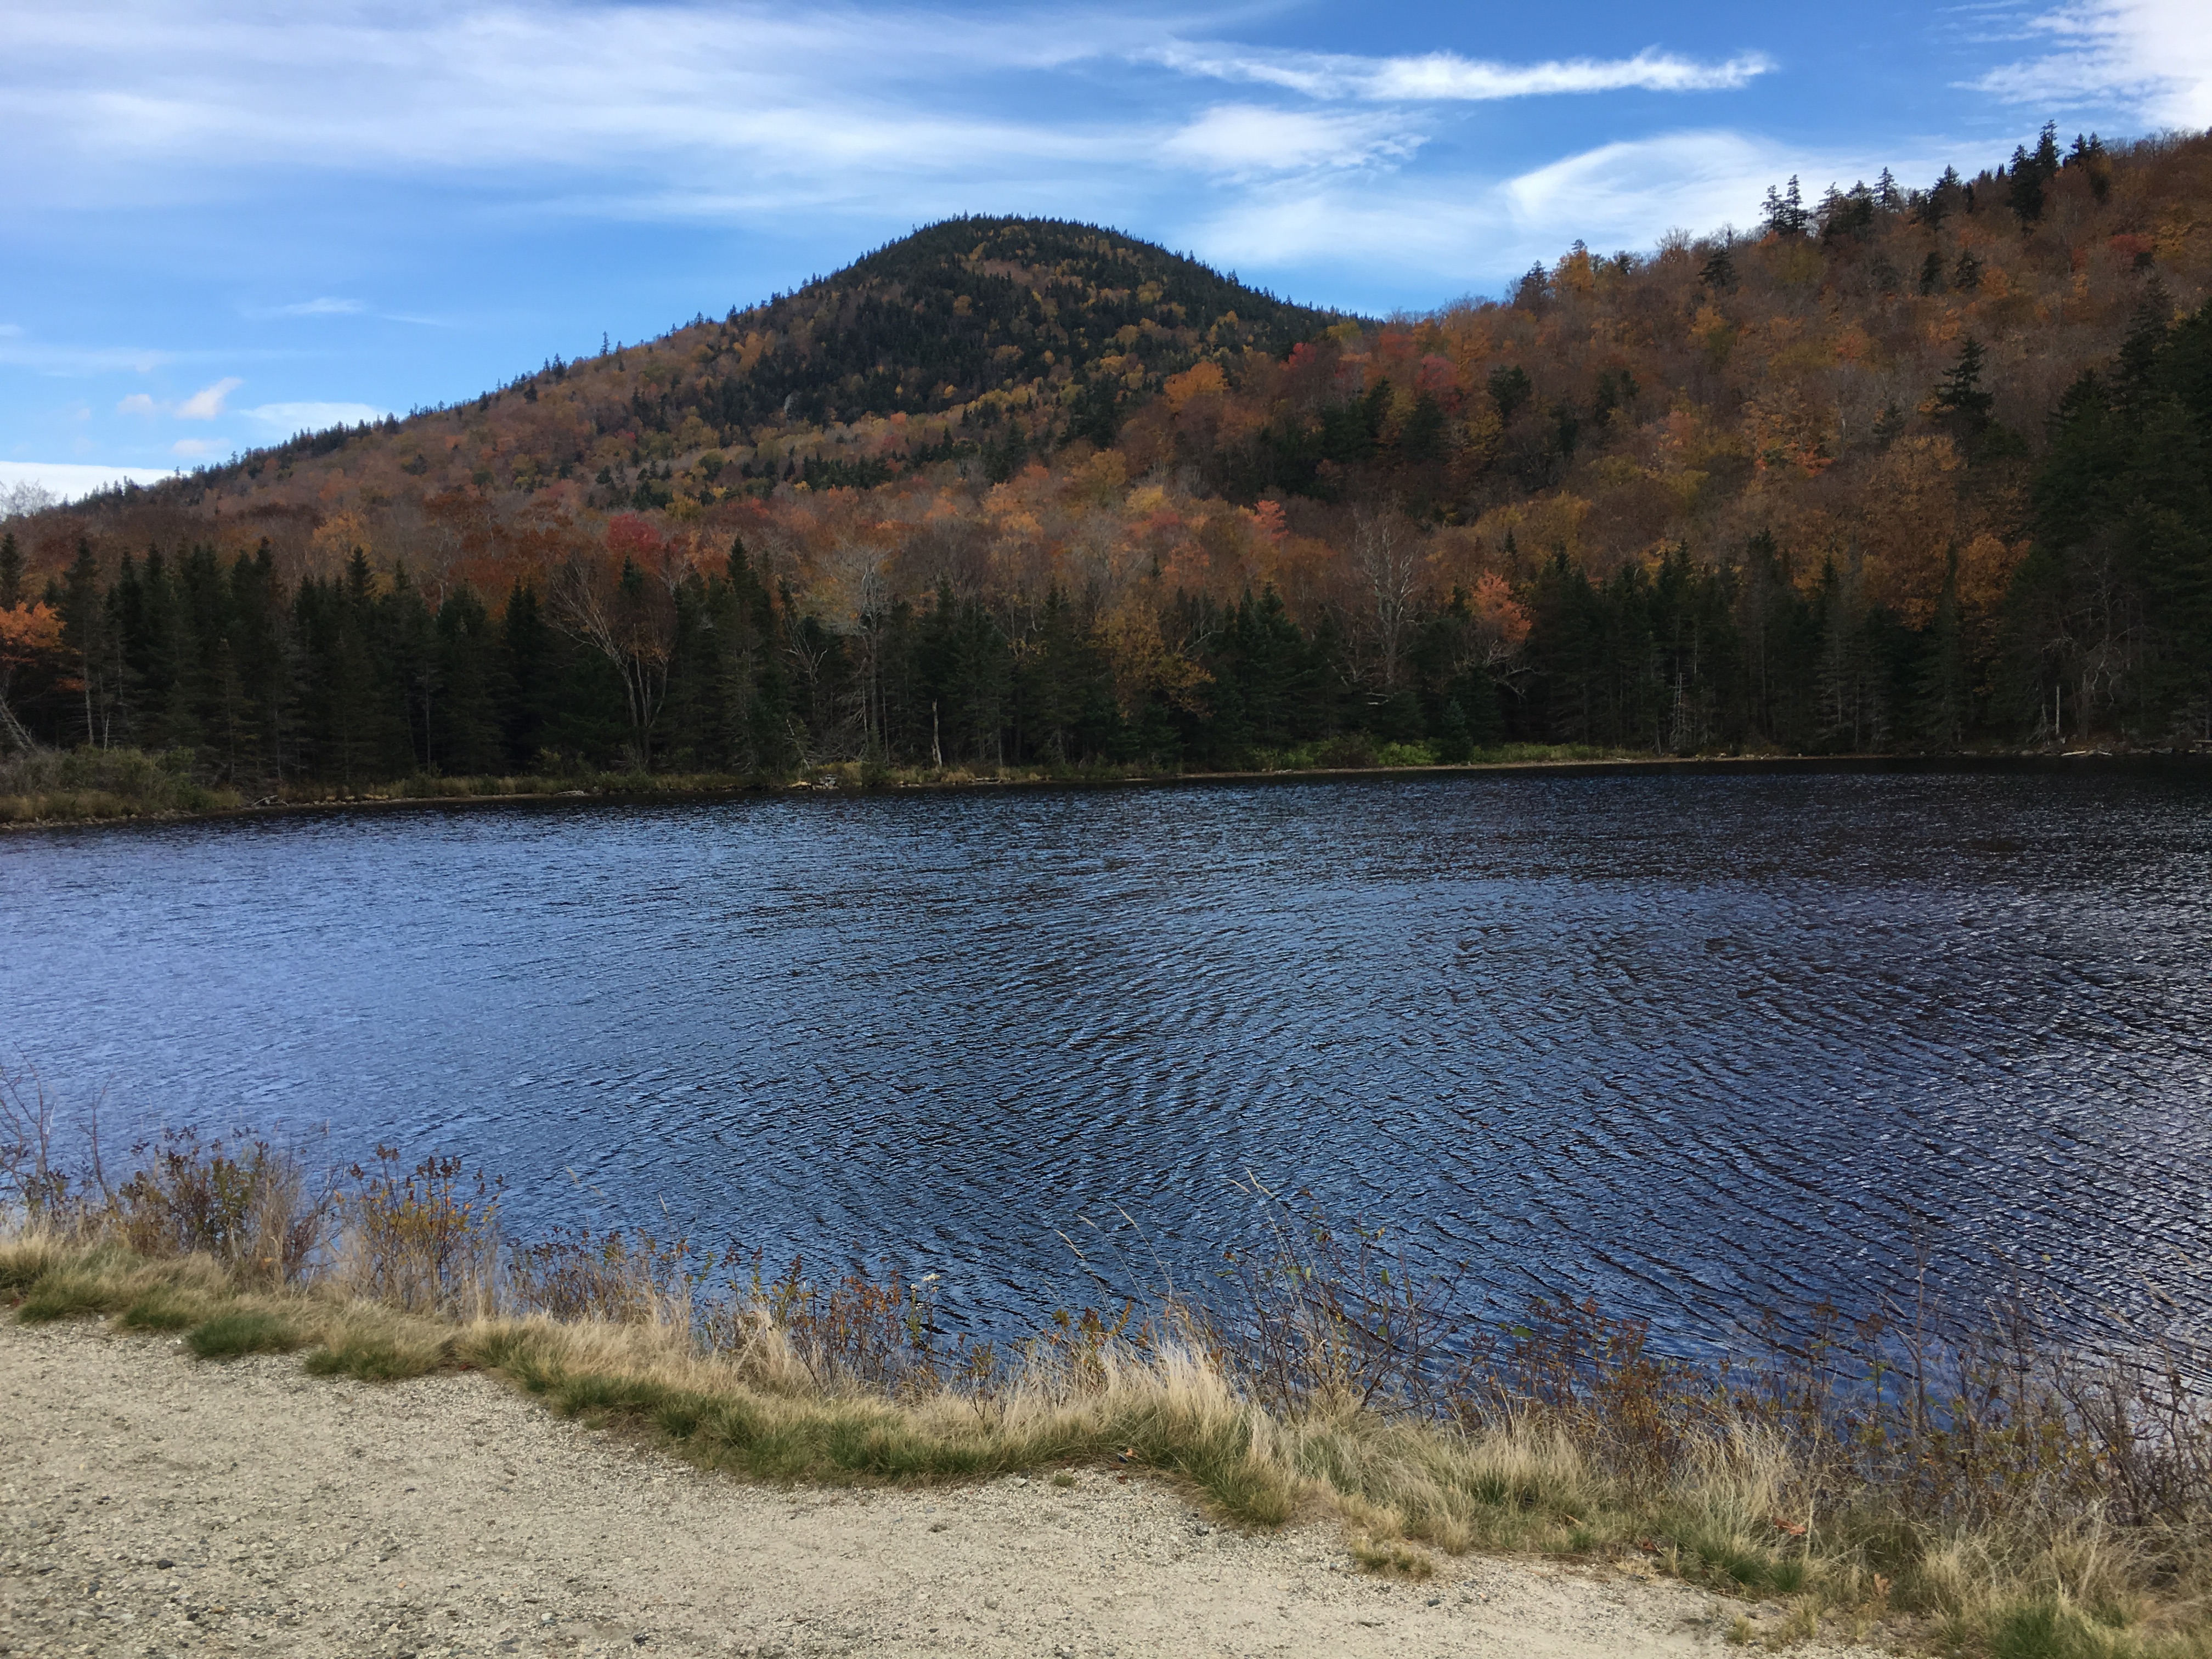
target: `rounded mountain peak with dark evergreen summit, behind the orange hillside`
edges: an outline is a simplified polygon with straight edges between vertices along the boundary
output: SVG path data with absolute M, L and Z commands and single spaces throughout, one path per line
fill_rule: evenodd
M 303 434 L 153 493 L 254 511 L 325 500 L 332 476 L 387 495 L 582 476 L 593 507 L 650 511 L 703 456 L 717 456 L 708 500 L 810 462 L 841 484 L 949 458 L 1004 471 L 1015 431 L 1020 449 L 1110 442 L 1119 411 L 1201 354 L 1281 354 L 1334 321 L 1097 226 L 949 219 L 721 321 L 551 361 L 451 409 Z M 885 422 L 896 442 L 880 440 Z M 856 427 L 876 442 L 841 453 Z

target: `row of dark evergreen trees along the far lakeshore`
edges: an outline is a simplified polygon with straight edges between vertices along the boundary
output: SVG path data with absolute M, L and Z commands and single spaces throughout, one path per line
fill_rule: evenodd
M 1949 562 L 1918 622 L 1772 533 L 1679 544 L 1593 582 L 1564 551 L 1486 593 L 1420 584 L 1420 531 L 1360 522 L 1363 602 L 1274 588 L 1148 608 L 1053 588 L 1009 606 L 863 584 L 841 617 L 763 575 L 571 557 L 487 597 L 354 551 L 294 586 L 270 549 L 91 549 L 24 593 L 0 542 L 4 695 L 27 741 L 190 750 L 217 781 L 358 785 L 414 772 L 885 765 L 1230 768 L 1336 745 L 1442 761 L 1535 741 L 1694 754 L 1958 750 L 2124 732 L 2212 737 L 2212 305 L 2146 299 L 2117 358 L 2048 418 L 2033 538 L 1995 613 Z M 1986 445 L 1973 343 L 1936 403 Z M 2015 458 L 2011 447 L 2000 447 Z M 1971 469 L 1969 469 L 1971 471 Z M 1137 630 L 1144 637 L 1121 637 Z M 1157 637 L 1155 637 L 1157 635 Z M 1146 666 L 1133 672 L 1133 664 Z

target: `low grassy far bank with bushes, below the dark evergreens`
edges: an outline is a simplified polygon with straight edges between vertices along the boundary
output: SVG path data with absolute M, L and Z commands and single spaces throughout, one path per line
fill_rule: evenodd
M 40 759 L 58 772 L 51 787 L 22 787 L 9 772 Z M 84 781 L 69 776 L 86 772 Z M 199 785 L 139 752 L 31 757 L 0 768 L 0 830 L 64 830 L 111 823 L 184 823 L 330 814 L 389 807 L 498 807 L 588 801 L 677 803 L 805 794 L 902 794 L 956 790 L 1095 790 L 1221 783 L 1347 783 L 1449 776 L 1818 776 L 1818 774 L 2075 774 L 2166 772 L 2212 779 L 2212 750 L 2004 750 L 1966 754 L 1626 754 L 1579 748 L 1513 745 L 1471 761 L 1378 761 L 1374 765 L 1276 765 L 1170 772 L 1155 768 L 869 768 L 838 761 L 794 776 L 721 772 L 575 772 L 518 776 L 414 776 L 343 787 L 283 785 L 250 799 L 243 790 Z M 9 787 L 9 785 L 15 787 Z M 38 779 L 44 783 L 44 779 Z

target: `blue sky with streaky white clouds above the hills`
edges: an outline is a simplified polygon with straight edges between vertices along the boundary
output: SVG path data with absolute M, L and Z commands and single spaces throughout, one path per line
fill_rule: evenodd
M 469 398 L 958 212 L 1429 310 L 1790 175 L 2212 126 L 2203 4 L 0 0 L 0 495 Z

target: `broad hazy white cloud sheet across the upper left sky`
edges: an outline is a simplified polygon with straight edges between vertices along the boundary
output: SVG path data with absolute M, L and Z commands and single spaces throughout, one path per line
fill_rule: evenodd
M 257 0 L 0 9 L 0 133 L 124 173 L 279 164 L 641 170 L 677 157 L 852 195 L 958 168 L 1097 157 L 1064 113 L 967 113 L 953 80 L 1126 58 L 1121 15 L 918 9 Z M 872 177 L 869 177 L 872 175 Z M 876 190 L 869 190 L 876 195 Z

